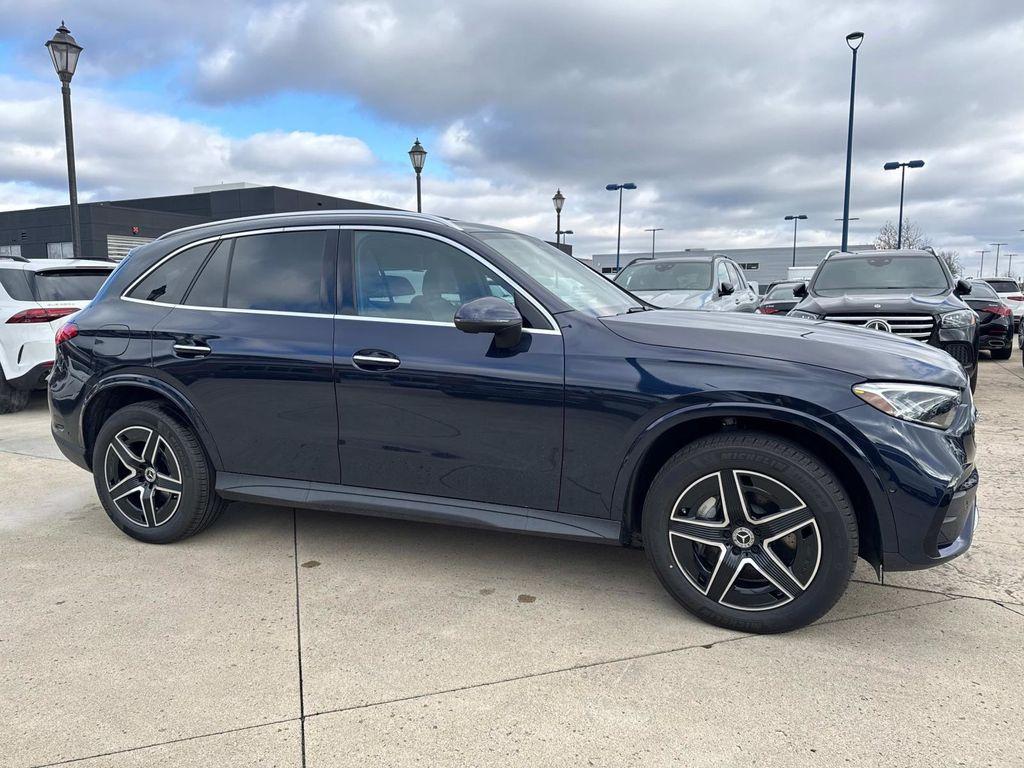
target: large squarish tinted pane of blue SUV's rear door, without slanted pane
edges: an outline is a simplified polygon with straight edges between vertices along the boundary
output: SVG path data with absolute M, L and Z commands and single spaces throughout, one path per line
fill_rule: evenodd
M 226 306 L 323 312 L 327 231 L 274 232 L 234 239 Z

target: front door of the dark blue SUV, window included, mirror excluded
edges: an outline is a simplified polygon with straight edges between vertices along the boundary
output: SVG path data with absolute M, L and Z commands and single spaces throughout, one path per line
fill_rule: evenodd
M 557 509 L 564 360 L 552 319 L 458 244 L 387 228 L 342 239 L 342 482 Z M 516 348 L 456 329 L 458 307 L 481 296 L 523 313 Z

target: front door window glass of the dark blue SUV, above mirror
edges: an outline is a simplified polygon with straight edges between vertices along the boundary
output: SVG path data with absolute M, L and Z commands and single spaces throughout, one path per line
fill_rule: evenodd
M 460 306 L 482 296 L 519 306 L 505 281 L 472 256 L 432 238 L 355 232 L 353 267 L 356 314 L 451 323 Z M 528 326 L 528 315 L 523 316 Z

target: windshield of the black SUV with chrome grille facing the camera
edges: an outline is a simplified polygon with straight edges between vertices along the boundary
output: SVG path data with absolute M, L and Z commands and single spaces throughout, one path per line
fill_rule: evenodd
M 825 261 L 814 278 L 821 296 L 848 293 L 913 292 L 936 295 L 949 290 L 939 260 L 929 254 L 844 256 Z

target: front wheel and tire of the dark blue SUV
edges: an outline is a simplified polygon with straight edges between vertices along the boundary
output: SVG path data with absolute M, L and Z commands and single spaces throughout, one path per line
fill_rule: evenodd
M 662 467 L 644 503 L 643 540 L 658 580 L 688 611 L 776 633 L 821 617 L 842 597 L 858 531 L 842 484 L 804 449 L 728 432 L 695 440 Z

